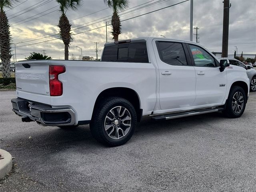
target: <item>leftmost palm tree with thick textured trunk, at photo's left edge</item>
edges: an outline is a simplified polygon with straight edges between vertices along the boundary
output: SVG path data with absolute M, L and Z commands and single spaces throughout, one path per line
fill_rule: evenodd
M 11 8 L 18 0 L 0 0 L 0 59 L 2 60 L 2 76 L 11 77 L 10 61 L 12 58 L 10 25 L 5 8 Z

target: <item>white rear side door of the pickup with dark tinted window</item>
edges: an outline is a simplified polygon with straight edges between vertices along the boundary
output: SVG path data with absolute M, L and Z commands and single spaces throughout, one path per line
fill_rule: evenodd
M 159 68 L 162 110 L 190 107 L 196 98 L 195 69 L 184 46 L 184 43 L 175 41 L 153 41 Z

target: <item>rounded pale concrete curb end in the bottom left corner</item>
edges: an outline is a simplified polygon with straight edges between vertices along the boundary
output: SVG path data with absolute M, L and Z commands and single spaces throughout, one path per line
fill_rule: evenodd
M 5 150 L 0 149 L 4 159 L 0 159 L 0 179 L 4 178 L 12 170 L 12 156 Z

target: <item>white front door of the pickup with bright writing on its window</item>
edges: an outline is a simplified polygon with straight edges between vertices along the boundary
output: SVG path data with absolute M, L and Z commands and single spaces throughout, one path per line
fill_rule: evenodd
M 218 61 L 204 48 L 187 44 L 196 71 L 194 106 L 220 104 L 226 95 L 226 71 L 220 72 Z

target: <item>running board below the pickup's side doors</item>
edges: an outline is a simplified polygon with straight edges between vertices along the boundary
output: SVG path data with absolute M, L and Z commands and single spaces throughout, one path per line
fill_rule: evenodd
M 217 112 L 217 111 L 222 111 L 222 110 L 224 110 L 224 108 L 216 107 L 216 108 L 209 108 L 209 109 L 194 110 L 194 111 L 189 111 L 189 112 L 179 112 L 179 113 L 151 116 L 151 118 L 156 121 L 167 120 L 167 119 L 175 119 L 175 118 L 187 117 L 187 116 L 192 116 L 192 115 L 212 113 L 212 112 Z

